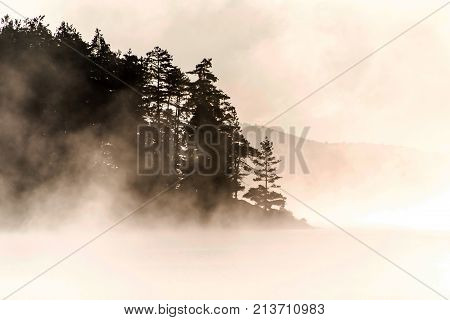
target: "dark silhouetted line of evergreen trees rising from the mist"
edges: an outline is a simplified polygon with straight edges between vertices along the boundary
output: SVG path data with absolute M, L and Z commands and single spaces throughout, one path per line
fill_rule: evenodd
M 253 174 L 258 185 L 243 197 L 267 212 L 284 208 L 273 144 L 266 138 L 254 148 L 244 137 L 211 59 L 184 72 L 159 47 L 144 56 L 115 52 L 98 29 L 86 42 L 66 22 L 52 32 L 43 16 L 6 16 L 0 70 L 0 174 L 18 197 L 67 172 L 120 172 L 136 194 L 174 185 L 173 192 L 192 197 L 207 215 L 218 203 L 237 199 Z M 160 154 L 170 172 L 136 171 L 142 160 L 137 140 L 143 138 L 137 128 L 150 126 L 162 144 L 171 144 Z M 89 147 L 78 149 L 80 140 Z M 73 161 L 77 153 L 94 151 L 100 157 L 93 166 Z

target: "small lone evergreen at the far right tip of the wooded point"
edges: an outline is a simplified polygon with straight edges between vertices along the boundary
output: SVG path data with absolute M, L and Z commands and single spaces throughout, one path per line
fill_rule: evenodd
M 260 144 L 260 149 L 256 157 L 253 158 L 255 178 L 253 181 L 260 182 L 257 187 L 250 188 L 244 195 L 245 198 L 255 202 L 266 212 L 272 211 L 273 206 L 284 208 L 286 198 L 275 191 L 280 186 L 276 181 L 281 179 L 276 174 L 276 165 L 280 160 L 276 160 L 273 155 L 273 142 L 267 137 Z

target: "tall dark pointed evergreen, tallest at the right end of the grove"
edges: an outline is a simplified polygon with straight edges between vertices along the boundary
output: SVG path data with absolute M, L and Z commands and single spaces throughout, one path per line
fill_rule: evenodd
M 224 102 L 229 97 L 215 85 L 217 77 L 211 72 L 211 59 L 203 59 L 195 70 L 188 72 L 197 79 L 191 83 L 187 107 L 193 110 L 187 135 L 192 142 L 185 166 L 192 174 L 189 188 L 197 194 L 204 212 L 218 202 L 231 198 L 232 178 L 227 155 L 227 110 Z

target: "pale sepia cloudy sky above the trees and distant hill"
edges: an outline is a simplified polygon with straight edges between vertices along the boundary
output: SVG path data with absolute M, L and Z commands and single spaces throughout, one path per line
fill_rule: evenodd
M 213 58 L 241 122 L 264 124 L 445 1 L 4 0 L 114 50 L 158 45 L 185 71 Z M 0 6 L 2 15 L 8 13 Z M 320 141 L 450 151 L 450 6 L 270 125 Z M 298 130 L 297 132 L 299 132 Z

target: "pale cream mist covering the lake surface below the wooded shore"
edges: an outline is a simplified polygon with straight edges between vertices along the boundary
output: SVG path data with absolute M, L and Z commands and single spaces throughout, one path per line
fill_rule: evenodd
M 99 229 L 97 229 L 99 230 Z M 442 294 L 448 233 L 351 230 Z M 94 230 L 0 236 L 0 294 L 34 277 Z M 144 230 L 119 226 L 15 299 L 439 299 L 338 230 Z

